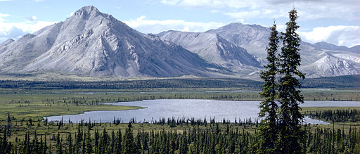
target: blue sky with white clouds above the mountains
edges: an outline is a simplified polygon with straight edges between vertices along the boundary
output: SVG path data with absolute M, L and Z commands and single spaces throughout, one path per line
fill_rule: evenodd
M 95 6 L 143 33 L 205 32 L 229 23 L 285 30 L 288 12 L 298 12 L 303 41 L 360 45 L 360 0 L 0 0 L 0 43 L 66 20 Z

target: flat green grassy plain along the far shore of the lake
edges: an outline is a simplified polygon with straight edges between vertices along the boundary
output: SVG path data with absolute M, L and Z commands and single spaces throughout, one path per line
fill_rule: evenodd
M 146 99 L 214 99 L 261 101 L 260 91 L 238 89 L 82 89 L 34 90 L 0 89 L 0 121 L 11 113 L 15 120 L 41 120 L 42 117 L 70 115 L 95 110 L 130 110 L 141 107 L 103 105 Z M 360 101 L 358 90 L 304 89 L 306 101 Z

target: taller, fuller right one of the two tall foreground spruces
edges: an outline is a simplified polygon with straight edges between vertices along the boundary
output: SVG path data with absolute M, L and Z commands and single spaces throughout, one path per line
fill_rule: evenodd
M 305 75 L 300 72 L 300 37 L 295 32 L 299 26 L 297 11 L 295 8 L 289 12 L 290 21 L 286 23 L 286 32 L 281 33 L 283 47 L 279 57 L 280 80 L 278 84 L 277 98 L 280 101 L 279 136 L 278 148 L 281 153 L 301 153 L 302 129 L 300 124 L 304 116 L 300 113 L 300 103 L 304 103 L 304 97 L 300 94 L 301 84 L 297 77 L 304 79 Z

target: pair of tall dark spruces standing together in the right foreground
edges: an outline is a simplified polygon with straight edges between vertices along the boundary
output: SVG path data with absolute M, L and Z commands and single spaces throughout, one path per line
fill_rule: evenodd
M 286 23 L 285 32 L 279 35 L 276 24 L 271 27 L 269 45 L 266 47 L 268 64 L 260 77 L 264 80 L 265 98 L 259 105 L 259 117 L 263 120 L 259 125 L 259 141 L 257 153 L 302 153 L 301 146 L 304 131 L 301 129 L 304 115 L 299 105 L 304 103 L 300 94 L 299 79 L 305 75 L 300 72 L 300 37 L 295 32 L 297 11 L 289 12 L 290 21 Z M 278 53 L 279 41 L 282 41 L 281 52 Z

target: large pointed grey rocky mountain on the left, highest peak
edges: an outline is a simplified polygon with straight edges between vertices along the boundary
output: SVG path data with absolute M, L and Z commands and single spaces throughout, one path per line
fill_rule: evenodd
M 0 71 L 118 77 L 207 77 L 228 72 L 179 45 L 143 35 L 94 6 L 1 44 Z

